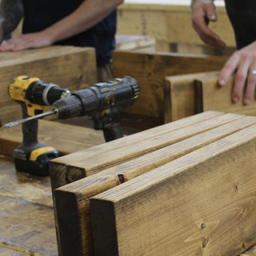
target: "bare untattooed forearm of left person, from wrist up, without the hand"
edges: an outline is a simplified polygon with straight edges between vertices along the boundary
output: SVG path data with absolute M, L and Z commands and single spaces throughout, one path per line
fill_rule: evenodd
M 72 14 L 43 32 L 48 34 L 52 43 L 70 38 L 96 25 L 122 2 L 123 0 L 86 0 Z

